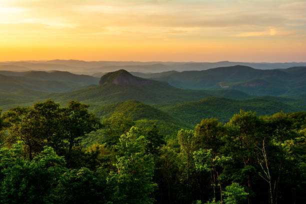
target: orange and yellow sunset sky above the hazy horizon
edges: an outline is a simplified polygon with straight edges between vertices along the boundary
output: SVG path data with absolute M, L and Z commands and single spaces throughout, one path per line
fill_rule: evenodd
M 306 61 L 306 0 L 0 0 L 0 61 Z

